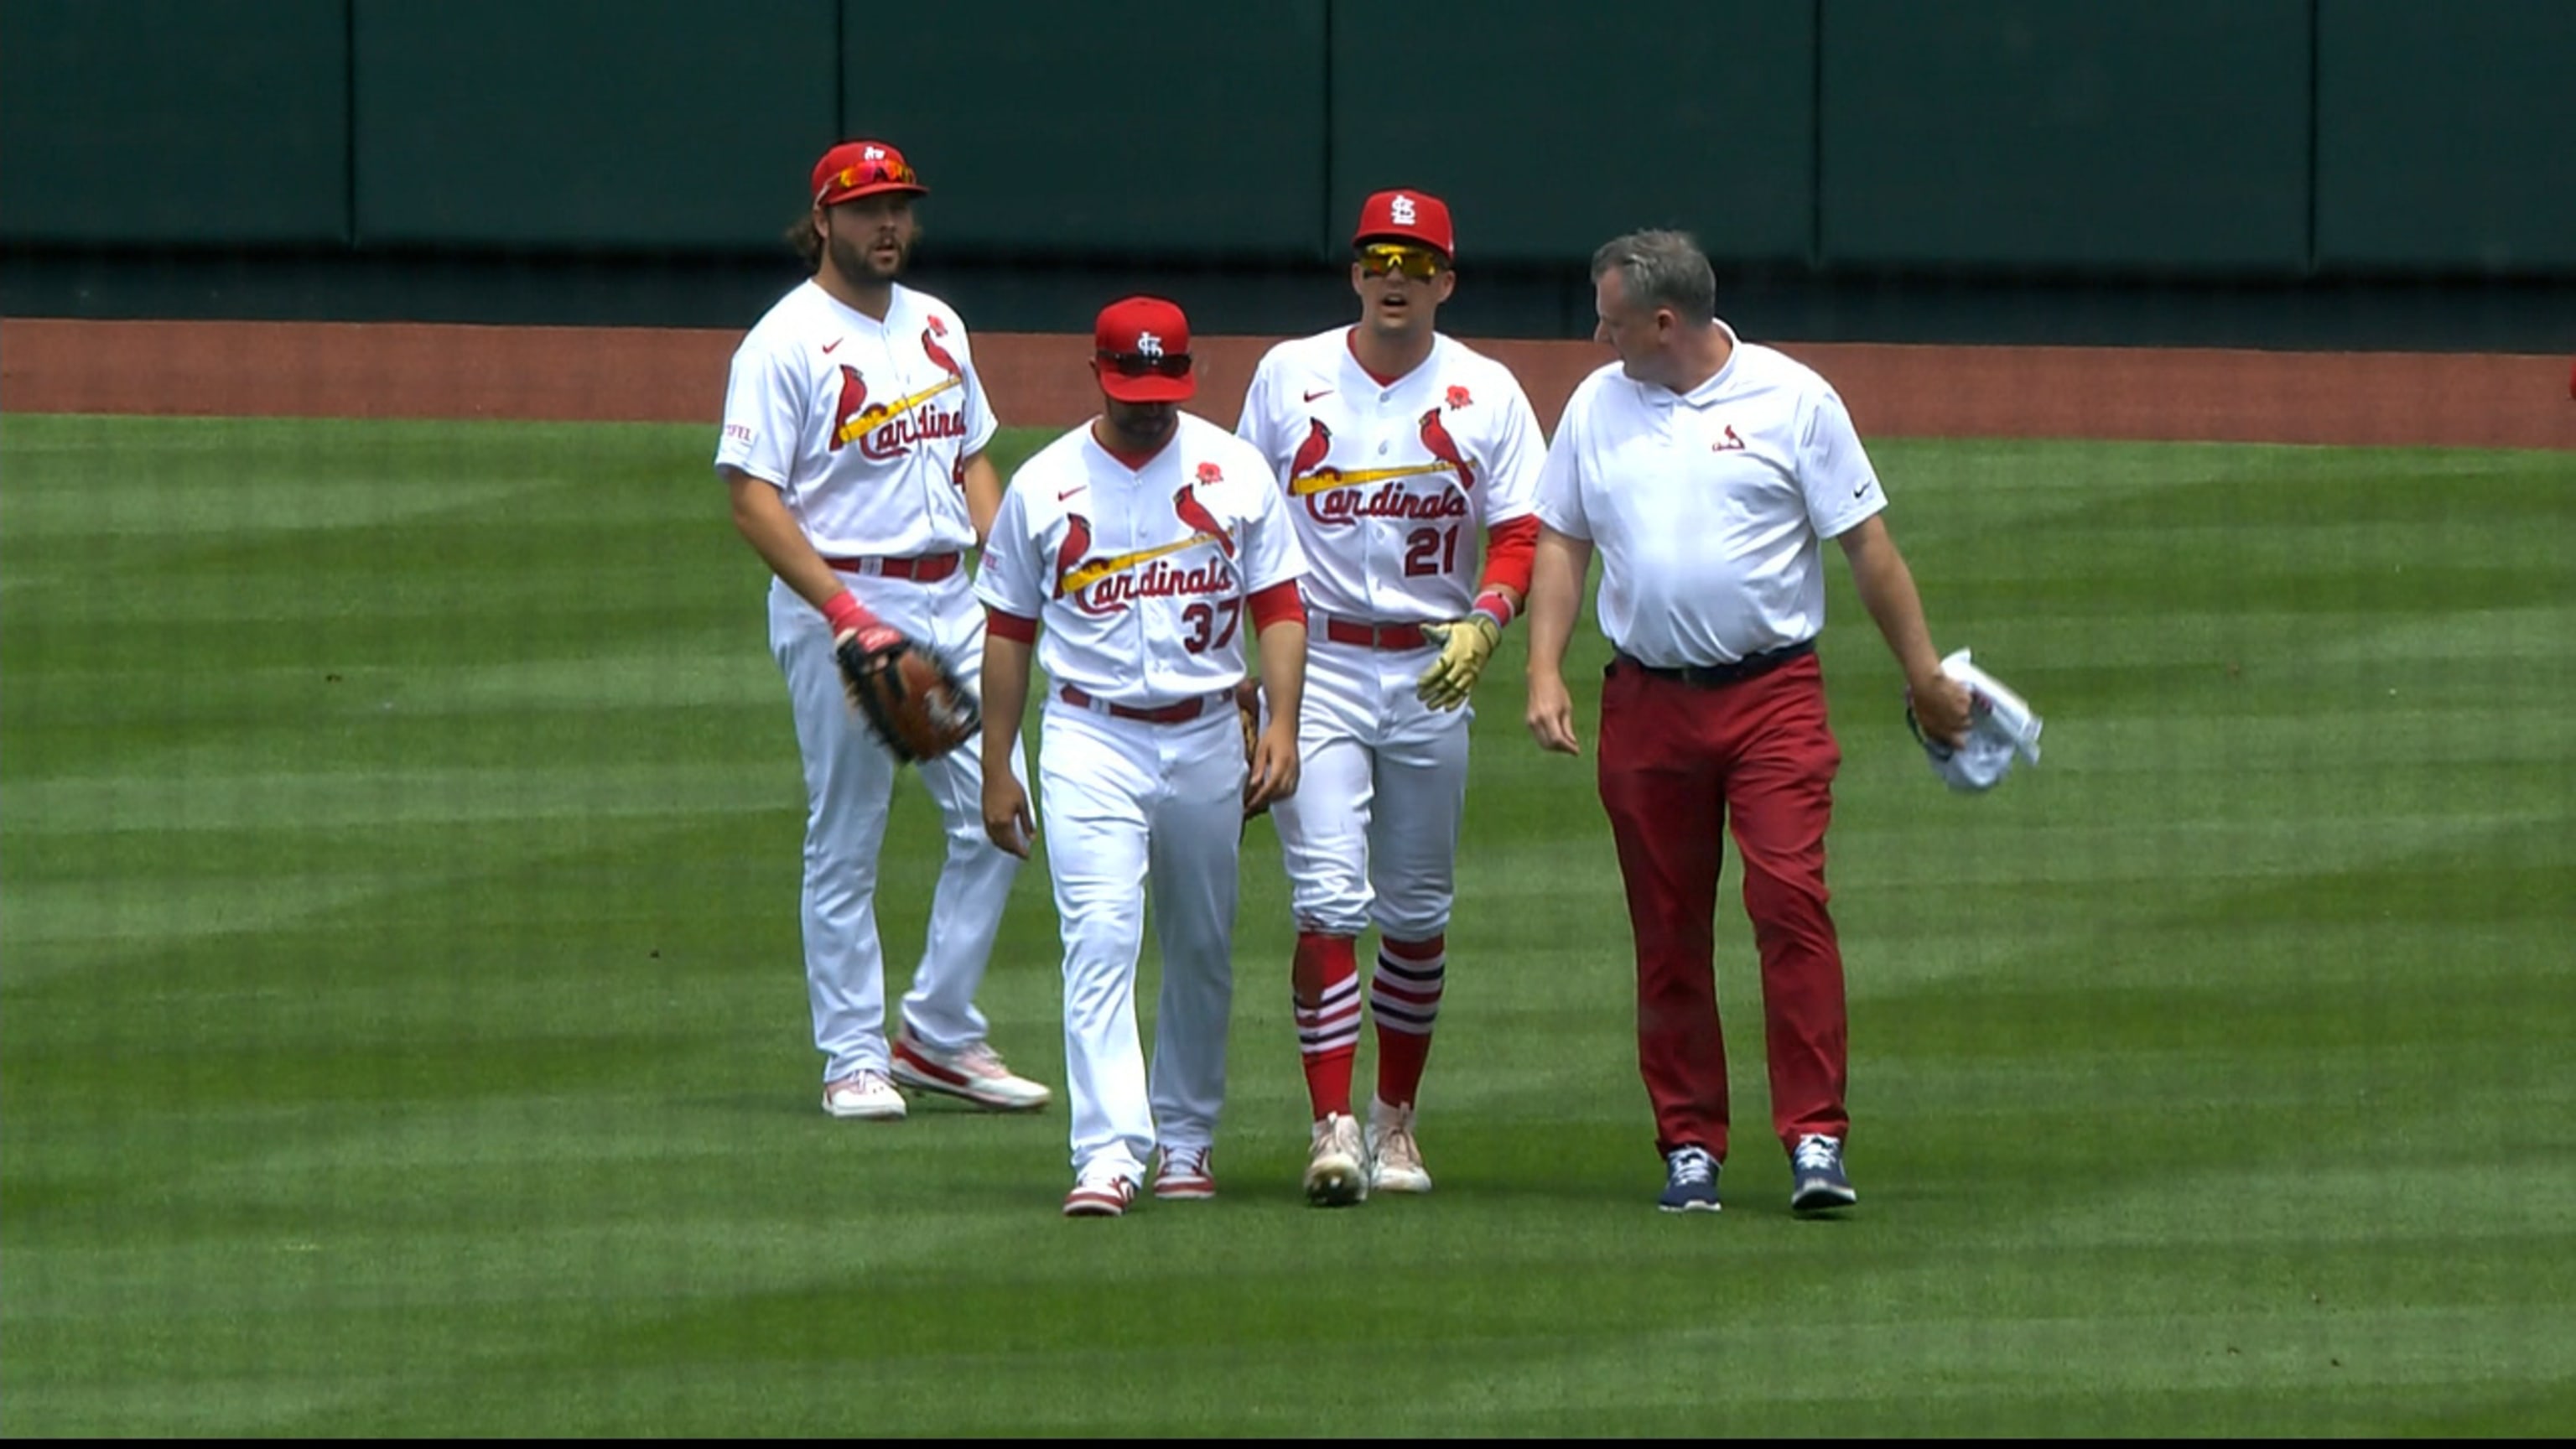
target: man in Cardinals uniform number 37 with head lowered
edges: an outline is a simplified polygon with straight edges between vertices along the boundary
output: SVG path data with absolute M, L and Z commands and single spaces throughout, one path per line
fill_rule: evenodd
M 1236 846 L 1252 810 L 1298 786 L 1306 562 L 1260 454 L 1180 410 L 1190 322 L 1157 297 L 1100 312 L 1103 413 L 1028 459 L 1002 498 L 976 596 L 984 748 L 1007 748 L 1046 665 L 1038 794 L 1064 931 L 1064 1085 L 1074 1109 L 1066 1217 L 1154 1196 L 1216 1196 L 1226 1101 Z M 1043 627 L 1043 632 L 1041 632 Z M 1270 722 L 1244 758 L 1234 686 L 1260 637 Z M 1020 781 L 984 779 L 984 828 L 1018 856 Z M 1154 1067 L 1136 1042 L 1146 887 L 1162 944 Z

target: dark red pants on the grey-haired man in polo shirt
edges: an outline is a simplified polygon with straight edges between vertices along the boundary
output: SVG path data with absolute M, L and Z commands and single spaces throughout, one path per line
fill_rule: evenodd
M 1628 663 L 1602 683 L 1600 789 L 1628 882 L 1636 1060 L 1659 1152 L 1695 1142 L 1726 1158 L 1713 923 L 1728 825 L 1762 957 L 1772 1127 L 1783 1145 L 1850 1129 L 1842 946 L 1824 910 L 1839 763 L 1814 655 L 1716 688 Z

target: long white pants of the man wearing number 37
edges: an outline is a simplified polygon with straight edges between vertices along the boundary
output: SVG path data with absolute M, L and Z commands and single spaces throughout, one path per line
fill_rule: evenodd
M 1144 1181 L 1157 1145 L 1208 1147 L 1226 1101 L 1244 737 L 1234 706 L 1115 719 L 1048 688 L 1038 810 L 1064 928 L 1074 1176 Z M 1162 944 L 1154 1067 L 1136 1036 L 1146 895 Z

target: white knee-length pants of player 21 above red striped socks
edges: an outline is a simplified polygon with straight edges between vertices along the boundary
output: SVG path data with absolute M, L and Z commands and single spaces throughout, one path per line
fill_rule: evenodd
M 1435 657 L 1306 645 L 1298 786 L 1270 807 L 1301 931 L 1358 936 L 1370 920 L 1396 941 L 1448 931 L 1473 706 L 1414 696 Z

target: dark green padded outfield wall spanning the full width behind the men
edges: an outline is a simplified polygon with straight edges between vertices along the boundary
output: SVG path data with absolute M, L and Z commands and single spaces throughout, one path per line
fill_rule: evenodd
M 325 315 L 399 284 L 507 320 L 510 268 L 562 294 L 567 268 L 639 258 L 768 286 L 806 168 L 845 134 L 896 139 L 930 178 L 925 255 L 1038 278 L 1012 322 L 1118 268 L 1288 297 L 1378 186 L 1448 196 L 1463 260 L 1497 276 L 1682 224 L 1824 312 L 1891 278 L 2576 286 L 2566 0 L 1605 15 L 0 0 L 0 302 L 222 309 L 214 266 Z M 137 258 L 160 258 L 157 294 Z M 1512 327 L 1582 309 L 1540 291 Z

